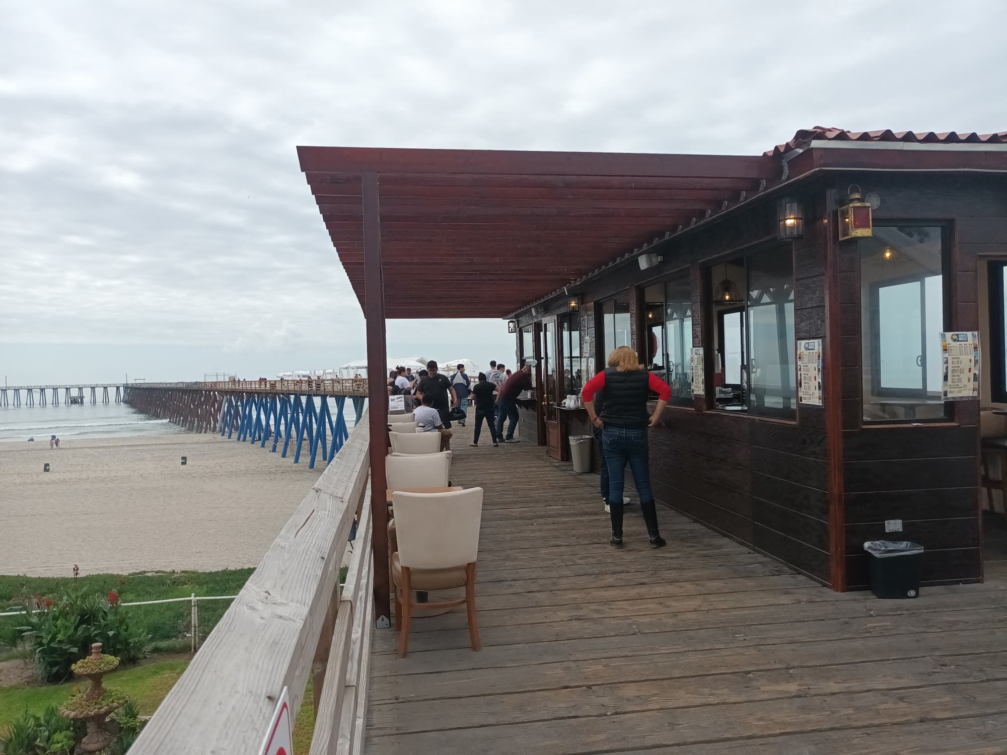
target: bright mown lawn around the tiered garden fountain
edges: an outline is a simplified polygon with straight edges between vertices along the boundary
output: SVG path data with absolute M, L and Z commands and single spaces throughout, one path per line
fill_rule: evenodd
M 142 716 L 150 716 L 171 692 L 188 663 L 188 660 L 162 660 L 130 666 L 110 673 L 105 677 L 104 684 L 125 692 L 136 703 Z M 48 705 L 58 707 L 69 699 L 75 687 L 84 689 L 87 685 L 86 681 L 76 681 L 43 687 L 0 687 L 0 731 L 26 708 L 32 713 L 41 713 Z M 311 734 L 314 730 L 311 695 L 309 676 L 301 710 L 294 722 L 294 752 L 307 752 L 311 749 Z

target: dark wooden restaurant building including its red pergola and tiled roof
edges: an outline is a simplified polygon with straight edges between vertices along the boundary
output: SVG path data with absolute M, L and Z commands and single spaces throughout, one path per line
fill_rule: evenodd
M 298 151 L 369 361 L 386 318 L 508 319 L 511 360 L 536 360 L 521 437 L 566 461 L 589 428 L 565 399 L 630 345 L 673 387 L 651 432 L 660 502 L 838 591 L 867 585 L 863 543 L 885 537 L 924 546 L 924 584 L 983 579 L 983 509 L 1003 510 L 983 469 L 999 479 L 1007 436 L 1007 132 L 817 127 L 757 156 Z M 979 334 L 976 398 L 944 400 L 950 331 Z

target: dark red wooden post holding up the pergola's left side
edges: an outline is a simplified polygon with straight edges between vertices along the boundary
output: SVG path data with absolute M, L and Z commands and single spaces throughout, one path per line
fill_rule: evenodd
M 368 404 L 371 415 L 371 521 L 374 543 L 375 614 L 391 616 L 388 568 L 388 505 L 385 457 L 388 455 L 388 385 L 385 353 L 385 280 L 381 259 L 381 208 L 378 174 L 362 176 L 364 199 L 364 317 L 368 336 Z M 384 623 L 384 622 L 383 622 Z

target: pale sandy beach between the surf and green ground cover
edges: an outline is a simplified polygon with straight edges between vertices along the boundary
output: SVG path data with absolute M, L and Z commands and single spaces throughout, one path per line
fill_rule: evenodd
M 269 448 L 194 434 L 0 444 L 0 574 L 256 566 L 324 469 Z

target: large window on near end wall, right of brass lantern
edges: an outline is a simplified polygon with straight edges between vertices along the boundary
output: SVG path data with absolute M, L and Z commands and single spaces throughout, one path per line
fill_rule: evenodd
M 942 419 L 940 226 L 875 225 L 860 241 L 864 422 Z

